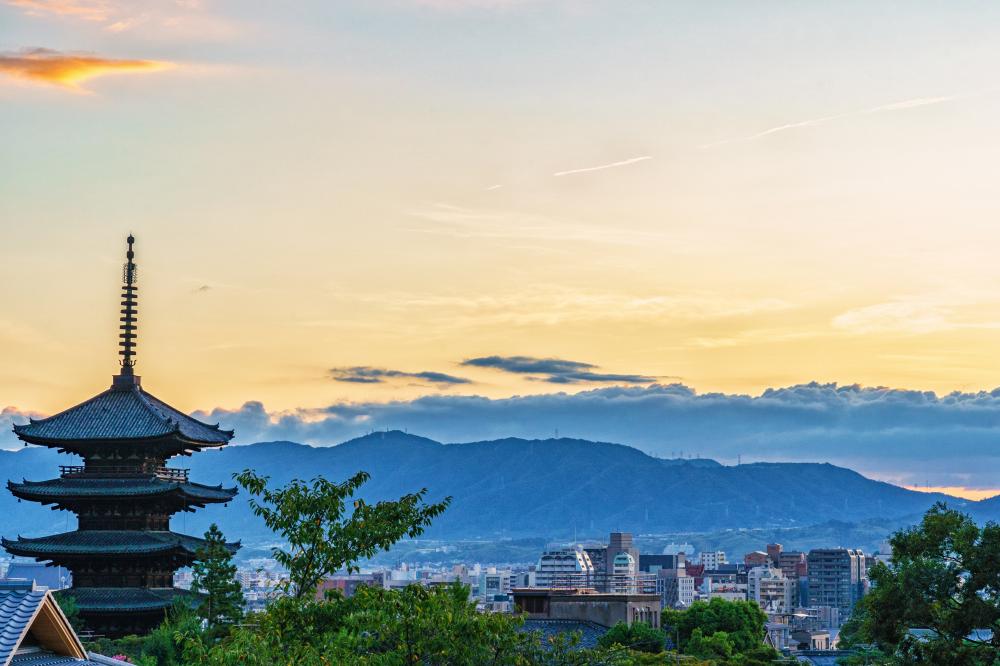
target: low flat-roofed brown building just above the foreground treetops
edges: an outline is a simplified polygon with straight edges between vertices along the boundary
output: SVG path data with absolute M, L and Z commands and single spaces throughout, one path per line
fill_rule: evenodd
M 514 607 L 530 620 L 574 620 L 604 627 L 619 622 L 660 626 L 658 594 L 608 594 L 588 588 L 517 588 Z

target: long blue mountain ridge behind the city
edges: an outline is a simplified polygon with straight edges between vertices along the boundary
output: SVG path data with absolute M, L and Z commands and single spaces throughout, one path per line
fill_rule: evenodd
M 51 478 L 59 464 L 71 460 L 38 447 L 0 451 L 0 476 Z M 225 485 L 233 485 L 233 472 L 247 467 L 276 483 L 319 474 L 342 479 L 365 470 L 372 475 L 364 488 L 369 499 L 426 487 L 432 500 L 454 498 L 427 534 L 436 539 L 792 528 L 831 520 L 915 518 L 938 500 L 967 509 L 975 504 L 873 481 L 829 464 L 724 466 L 704 459 L 662 460 L 627 446 L 577 439 L 441 444 L 394 431 L 332 447 L 293 442 L 230 446 L 172 464 L 190 465 L 193 480 Z M 213 521 L 247 546 L 272 541 L 250 513 L 245 494 L 228 508 L 210 506 L 178 515 L 173 528 L 200 533 Z M 5 489 L 0 491 L 0 533 L 5 536 L 74 527 L 72 516 L 64 512 L 18 504 Z

